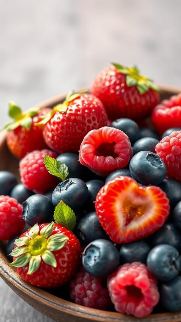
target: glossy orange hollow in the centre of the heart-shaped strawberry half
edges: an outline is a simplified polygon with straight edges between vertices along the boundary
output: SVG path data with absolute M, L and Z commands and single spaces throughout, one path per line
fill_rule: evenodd
M 147 211 L 147 204 L 134 204 L 132 201 L 126 197 L 123 200 L 123 211 L 126 217 L 125 225 L 128 225 L 133 219 L 140 218 Z

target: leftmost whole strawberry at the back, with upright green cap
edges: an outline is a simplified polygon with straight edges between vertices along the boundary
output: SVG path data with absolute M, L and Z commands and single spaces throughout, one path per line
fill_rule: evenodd
M 34 149 L 48 148 L 43 139 L 43 126 L 37 127 L 34 124 L 50 110 L 34 107 L 22 112 L 14 102 L 9 102 L 9 116 L 13 118 L 13 121 L 7 122 L 3 128 L 7 131 L 7 146 L 15 157 L 22 159 Z

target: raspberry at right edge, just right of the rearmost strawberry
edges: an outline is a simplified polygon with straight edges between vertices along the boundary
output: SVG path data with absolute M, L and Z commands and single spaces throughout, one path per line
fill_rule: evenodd
M 156 131 L 162 135 L 169 128 L 180 127 L 181 93 L 162 100 L 152 110 L 151 121 Z

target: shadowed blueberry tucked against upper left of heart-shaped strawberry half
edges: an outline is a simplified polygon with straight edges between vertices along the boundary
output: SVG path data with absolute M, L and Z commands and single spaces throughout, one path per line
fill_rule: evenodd
M 87 198 L 87 201 L 86 201 L 86 204 L 85 204 L 84 208 L 88 212 L 95 211 L 96 196 L 97 196 L 100 188 L 103 187 L 104 181 L 102 181 L 102 180 L 90 180 L 90 181 L 87 181 L 85 184 L 89 189 L 89 194 L 88 194 L 88 198 Z

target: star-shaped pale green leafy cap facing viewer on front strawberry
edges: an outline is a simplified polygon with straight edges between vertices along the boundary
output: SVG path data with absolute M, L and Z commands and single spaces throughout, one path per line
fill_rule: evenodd
M 32 274 L 40 267 L 41 260 L 53 267 L 57 266 L 55 256 L 52 251 L 58 251 L 69 239 L 66 235 L 52 234 L 54 223 L 51 222 L 41 230 L 35 224 L 29 231 L 28 236 L 15 239 L 16 248 L 11 252 L 11 256 L 16 259 L 10 266 L 24 267 L 29 263 L 27 274 Z M 51 236 L 50 236 L 51 235 Z

